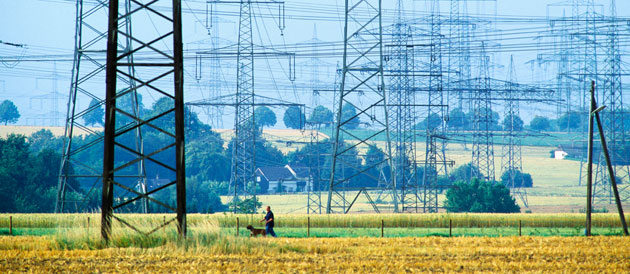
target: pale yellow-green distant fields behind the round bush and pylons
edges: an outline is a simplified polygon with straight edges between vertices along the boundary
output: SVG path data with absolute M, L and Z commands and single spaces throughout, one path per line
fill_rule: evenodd
M 293 148 L 295 149 L 295 148 Z M 449 144 L 446 156 L 449 160 L 454 160 L 455 168 L 471 161 L 470 145 Z M 579 185 L 580 162 L 574 160 L 556 160 L 549 157 L 549 151 L 553 146 L 524 146 L 522 148 L 523 170 L 532 175 L 533 188 L 525 189 L 528 196 L 528 207 L 523 201 L 517 199 L 521 207 L 521 212 L 532 213 L 579 213 L 585 210 L 586 187 Z M 424 144 L 418 143 L 418 151 L 424 151 Z M 497 178 L 501 175 L 501 146 L 495 146 L 495 170 Z M 422 155 L 418 156 L 418 160 Z M 626 182 L 627 183 L 627 182 Z M 352 196 L 352 193 L 348 194 Z M 375 198 L 378 194 L 372 194 Z M 322 203 L 325 207 L 327 192 L 322 193 Z M 307 196 L 304 193 L 289 193 L 281 195 L 259 195 L 260 201 L 264 205 L 270 205 L 277 213 L 306 213 Z M 444 195 L 438 196 L 439 203 L 445 200 Z M 222 201 L 227 203 L 231 197 L 222 197 Z M 385 202 L 388 202 L 387 200 Z M 630 204 L 625 209 L 630 210 Z M 390 205 L 391 206 L 391 205 Z M 596 203 L 595 208 L 615 212 L 612 204 Z M 385 208 L 384 212 L 391 212 L 392 208 Z M 360 197 L 353 207 L 353 212 L 369 213 L 373 212 L 367 200 Z

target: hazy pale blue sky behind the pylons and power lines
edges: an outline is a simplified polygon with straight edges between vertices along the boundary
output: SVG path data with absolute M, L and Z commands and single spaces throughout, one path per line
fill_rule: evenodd
M 396 1 L 383 1 L 387 9 L 384 15 L 385 23 L 391 22 L 394 14 L 393 9 Z M 442 1 L 441 13 L 448 14 L 448 1 Z M 486 16 L 498 17 L 539 17 L 547 16 L 548 11 L 552 16 L 561 15 L 561 8 L 548 9 L 548 4 L 560 1 L 544 1 L 544 0 L 500 0 L 497 2 L 476 2 L 469 1 L 469 13 L 483 14 Z M 596 1 L 599 10 L 608 14 L 608 3 L 610 1 Z M 408 14 L 420 15 L 427 10 L 427 2 L 425 1 L 404 1 L 405 10 Z M 342 0 L 299 0 L 286 1 L 286 30 L 284 36 L 279 35 L 279 31 L 275 27 L 275 21 L 272 19 L 257 19 L 257 27 L 255 30 L 256 44 L 273 45 L 281 48 L 283 44 L 293 44 L 297 42 L 307 41 L 313 37 L 314 25 L 317 25 L 318 38 L 323 41 L 340 41 L 342 39 L 342 19 L 343 19 Z M 184 1 L 184 42 L 186 48 L 194 49 L 200 45 L 198 41 L 204 41 L 209 38 L 205 28 L 206 17 L 203 13 L 192 13 L 191 10 L 205 10 L 204 1 Z M 322 11 L 309 12 L 309 7 L 320 7 Z M 235 11 L 234 6 L 220 7 L 222 11 Z M 270 13 L 275 8 L 258 7 L 255 12 Z M 630 13 L 630 1 L 617 1 L 617 12 L 619 16 L 627 17 Z M 570 13 L 570 9 L 567 9 Z M 317 19 L 318 15 L 326 15 L 325 20 Z M 411 17 L 410 15 L 408 15 Z M 330 21 L 330 19 L 335 19 Z M 235 16 L 221 16 L 219 35 L 222 39 L 228 41 L 236 41 L 237 39 L 237 18 Z M 543 24 L 538 24 L 542 26 Z M 30 59 L 37 59 L 34 56 L 39 55 L 59 55 L 57 62 L 3 62 L 0 65 L 0 99 L 10 99 L 15 101 L 22 113 L 20 124 L 37 123 L 36 118 L 46 116 L 52 110 L 52 100 L 37 100 L 39 97 L 46 96 L 52 92 L 56 83 L 57 90 L 64 96 L 67 96 L 70 86 L 71 72 L 71 54 L 74 47 L 75 33 L 75 4 L 73 1 L 67 0 L 0 0 L 0 40 L 5 42 L 25 44 L 25 48 L 15 48 L 7 45 L 0 45 L 0 58 L 14 58 L 19 56 L 28 56 Z M 528 24 L 497 24 L 495 27 L 499 29 L 524 28 L 530 27 Z M 134 31 L 152 31 L 146 26 L 136 26 Z M 223 44 L 229 44 L 224 42 Z M 203 45 L 203 44 L 202 44 Z M 207 44 L 204 47 L 208 47 Z M 519 80 L 529 81 L 536 80 L 540 77 L 531 73 L 528 65 L 524 62 L 535 58 L 535 52 L 516 52 L 515 60 L 517 61 Z M 501 62 L 507 66 L 505 60 L 508 59 L 509 53 L 501 53 L 495 56 L 496 62 Z M 193 60 L 194 61 L 194 60 Z M 323 68 L 320 68 L 322 76 L 320 77 L 325 84 L 332 84 L 334 79 L 335 64 L 341 61 L 340 58 L 329 58 L 322 60 Z M 286 86 L 283 91 L 288 92 L 285 99 L 302 101 L 310 103 L 310 100 L 304 99 L 309 97 L 310 93 L 302 96 L 300 92 L 309 90 L 310 86 L 306 86 L 310 81 L 310 76 L 306 68 L 298 68 L 298 81 L 290 83 L 287 81 L 283 71 L 286 67 L 282 60 L 270 60 L 262 62 L 262 67 L 269 67 L 274 72 L 265 76 L 264 73 L 258 74 L 261 86 Z M 307 63 L 308 60 L 298 60 L 298 64 Z M 54 71 L 56 66 L 56 72 Z M 231 69 L 232 65 L 226 64 L 222 67 L 222 78 L 226 82 L 233 82 L 235 73 Z M 194 64 L 187 60 L 187 100 L 199 99 L 207 97 L 208 94 L 202 94 L 204 87 L 203 81 L 197 83 L 192 79 L 194 72 Z M 505 69 L 497 68 L 495 71 L 497 78 L 505 77 Z M 545 73 L 545 72 L 538 72 Z M 56 75 L 56 77 L 53 77 Z M 306 79 L 308 77 L 308 79 Z M 53 81 L 52 78 L 56 78 Z M 263 79 L 264 78 L 264 79 Z M 204 79 L 205 80 L 205 79 Z M 257 80 L 258 81 L 258 80 Z M 229 83 L 226 87 L 229 87 Z M 196 93 L 198 90 L 199 93 Z M 322 98 L 322 103 L 330 103 L 330 98 Z M 58 109 L 65 112 L 66 98 L 58 98 Z M 535 111 L 536 109 L 532 109 Z M 31 118 L 29 120 L 29 118 Z M 280 119 L 279 119 L 280 120 Z M 227 123 L 227 122 L 226 122 Z M 230 127 L 229 123 L 225 127 Z

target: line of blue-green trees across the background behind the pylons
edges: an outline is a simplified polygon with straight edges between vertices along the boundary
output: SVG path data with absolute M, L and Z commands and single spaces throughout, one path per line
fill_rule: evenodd
M 132 111 L 134 108 L 130 100 L 124 100 L 122 98 L 121 104 L 117 107 L 127 112 Z M 168 98 L 160 98 L 155 101 L 151 107 L 145 107 L 142 104 L 142 98 L 137 98 L 138 107 L 134 110 L 137 111 L 140 117 L 152 116 L 156 113 L 162 113 L 168 110 L 172 102 Z M 127 102 L 127 103 L 124 103 Z M 12 103 L 2 103 L 7 105 L 0 107 L 0 110 L 8 110 L 7 113 L 11 115 L 4 115 L 0 112 L 0 117 L 12 117 L 11 120 L 2 120 L 5 123 L 15 122 L 17 108 L 10 107 Z M 0 106 L 2 106 L 0 105 Z M 102 126 L 104 118 L 104 109 L 102 103 L 93 100 L 90 102 L 90 112 L 83 116 L 84 123 L 92 126 Z M 15 110 L 15 111 L 14 111 Z M 255 113 L 255 125 L 256 125 L 256 145 L 255 145 L 255 161 L 257 166 L 283 166 L 285 164 L 291 164 L 293 166 L 311 167 L 312 172 L 316 178 L 320 178 L 320 181 L 326 181 L 330 178 L 330 153 L 332 152 L 332 146 L 330 140 L 323 140 L 320 143 L 306 144 L 294 152 L 288 155 L 283 155 L 271 142 L 264 139 L 262 136 L 262 128 L 266 126 L 273 126 L 277 123 L 277 119 L 273 111 L 267 107 L 257 108 Z M 350 119 L 354 117 L 345 126 L 348 129 L 357 129 L 361 121 L 356 116 L 356 109 L 352 105 L 345 105 L 342 107 L 342 118 Z M 453 114 L 451 112 L 451 114 Z M 229 141 L 227 144 L 221 138 L 221 136 L 213 131 L 212 128 L 199 120 L 197 114 L 189 107 L 185 108 L 185 126 L 186 126 L 186 175 L 187 175 L 187 199 L 188 199 L 188 211 L 189 212 L 217 212 L 224 211 L 227 206 L 222 204 L 219 195 L 227 195 L 229 190 L 229 180 L 231 177 L 231 157 L 233 142 Z M 466 115 L 464 114 L 464 117 Z M 498 115 L 493 117 L 497 117 Z M 174 131 L 174 117 L 166 115 L 163 119 L 157 119 L 152 123 L 160 128 Z M 9 119 L 9 118 L 6 118 Z M 323 106 L 318 106 L 313 109 L 309 117 L 307 118 L 305 113 L 299 107 L 290 107 L 285 110 L 283 116 L 283 122 L 285 126 L 289 128 L 304 128 L 305 123 L 312 123 L 320 127 L 330 127 L 333 122 L 333 112 Z M 425 123 L 430 123 L 431 118 L 427 118 Z M 496 119 L 498 121 L 498 117 Z M 451 120 L 449 120 L 450 122 Z M 118 126 L 125 125 L 130 122 L 130 118 L 120 116 L 117 117 Z M 421 122 L 422 123 L 422 122 Z M 450 122 L 452 123 L 452 122 Z M 498 122 L 497 122 L 498 124 Z M 425 124 L 426 125 L 426 124 Z M 159 149 L 160 145 L 166 141 L 165 136 L 160 134 L 157 130 L 147 129 L 142 132 L 145 151 L 155 151 Z M 74 146 L 81 147 L 83 145 L 94 142 L 99 136 L 97 134 L 88 134 L 75 136 L 73 138 Z M 135 136 L 132 134 L 122 135 L 118 137 L 117 142 L 121 143 L 133 143 Z M 63 138 L 57 137 L 49 130 L 40 130 L 30 136 L 24 135 L 9 135 L 6 138 L 0 138 L 0 181 L 3 182 L 0 185 L 0 212 L 52 212 L 56 201 L 58 173 L 61 163 L 61 152 L 63 149 Z M 347 144 L 342 143 L 342 146 Z M 88 149 L 79 152 L 74 155 L 75 161 L 81 162 L 87 166 L 92 166 L 95 169 L 102 169 L 102 143 L 94 146 L 90 146 Z M 169 153 L 157 154 L 153 158 L 156 160 L 168 162 L 170 157 Z M 316 159 L 319 155 L 319 159 Z M 367 168 L 373 166 L 374 163 L 382 162 L 384 153 L 377 147 L 370 147 L 365 155 L 360 155 L 358 151 L 351 150 L 346 154 L 348 159 L 345 162 L 354 162 L 356 166 L 363 166 Z M 129 161 L 131 158 L 129 155 L 119 153 L 116 162 L 122 163 Z M 316 167 L 316 163 L 320 166 Z M 68 166 L 67 168 L 73 169 L 78 167 Z M 131 167 L 129 172 L 137 172 L 135 167 Z M 347 166 L 340 166 L 339 170 L 349 168 Z M 455 169 L 449 173 L 449 176 L 439 176 L 439 187 L 441 189 L 448 189 L 453 186 L 451 182 L 456 181 L 471 181 L 470 169 L 474 168 L 470 164 L 464 165 Z M 365 174 L 356 176 L 348 182 L 349 187 L 375 187 L 378 182 L 375 178 L 379 176 L 389 176 L 390 167 L 387 165 L 381 165 L 368 169 Z M 435 170 L 425 170 L 424 166 L 414 167 L 416 172 L 416 178 L 422 180 L 425 172 L 436 172 Z M 342 171 L 343 172 L 343 171 Z M 351 173 L 351 170 L 346 170 Z M 412 171 L 408 171 L 412 172 Z M 155 179 L 160 177 L 161 179 L 174 179 L 168 178 L 168 171 L 151 161 L 146 162 L 146 177 L 147 179 Z M 466 177 L 468 176 L 468 177 Z M 532 185 L 531 176 L 522 175 L 528 180 L 523 180 L 525 187 Z M 388 178 L 387 178 L 388 179 Z M 421 181 L 420 181 L 421 183 Z M 72 187 L 72 191 L 67 195 L 75 199 L 83 199 L 89 201 L 87 208 L 83 208 L 85 211 L 97 211 L 100 207 L 100 189 L 89 192 L 88 186 L 85 182 L 81 182 L 78 179 L 69 179 L 68 184 Z M 326 191 L 328 185 L 326 183 L 316 185 L 317 190 Z M 258 186 L 258 193 L 265 193 L 265 186 Z M 172 191 L 162 192 L 159 195 L 163 195 L 165 199 L 174 199 L 174 189 Z M 257 203 L 257 201 L 246 201 Z M 158 212 L 158 208 L 153 208 L 153 212 Z

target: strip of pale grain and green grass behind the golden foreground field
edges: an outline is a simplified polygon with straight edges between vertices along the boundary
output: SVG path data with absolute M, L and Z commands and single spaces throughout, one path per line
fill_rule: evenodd
M 9 234 L 9 216 L 12 217 L 13 235 L 83 234 L 98 238 L 99 214 L 2 214 L 0 235 Z M 159 226 L 173 215 L 119 214 L 126 221 L 144 227 L 145 231 Z M 195 231 L 213 227 L 223 235 L 247 236 L 245 226 L 262 227 L 262 214 L 189 214 L 191 235 Z M 630 217 L 630 216 L 628 216 Z M 89 224 L 88 224 L 89 218 Z M 238 220 L 237 220 L 238 219 Z M 630 219 L 630 218 L 627 218 Z M 277 214 L 276 232 L 283 237 L 380 237 L 381 222 L 385 237 L 424 236 L 580 236 L 584 234 L 584 214 L 349 214 L 303 215 Z M 128 230 L 114 222 L 114 231 Z M 593 215 L 593 233 L 620 235 L 617 214 Z M 203 230 L 202 229 L 202 230 Z M 310 230 L 309 230 L 310 229 Z M 174 232 L 174 225 L 164 231 Z M 163 231 L 161 231 L 163 232 Z M 134 232 L 131 232 L 132 234 Z

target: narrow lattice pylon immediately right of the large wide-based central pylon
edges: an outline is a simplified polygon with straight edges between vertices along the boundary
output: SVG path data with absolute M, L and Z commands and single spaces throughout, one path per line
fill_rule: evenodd
M 392 44 L 388 45 L 387 71 L 388 114 L 391 129 L 393 162 L 396 181 L 400 185 L 403 212 L 418 212 L 422 197 L 416 177 L 416 124 L 414 103 L 414 58 L 411 27 L 404 22 L 403 4 L 397 3 L 397 18 L 393 25 Z

